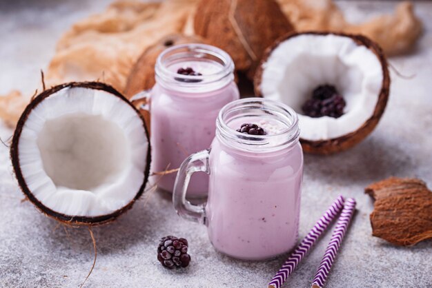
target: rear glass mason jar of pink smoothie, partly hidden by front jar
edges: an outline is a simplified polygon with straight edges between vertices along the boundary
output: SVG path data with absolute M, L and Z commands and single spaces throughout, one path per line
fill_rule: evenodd
M 148 93 L 153 172 L 178 168 L 189 154 L 210 145 L 219 110 L 239 99 L 233 71 L 230 56 L 210 45 L 175 45 L 159 55 L 156 84 Z M 172 192 L 176 174 L 155 180 L 158 187 Z M 188 196 L 207 196 L 207 189 L 208 177 L 195 175 Z

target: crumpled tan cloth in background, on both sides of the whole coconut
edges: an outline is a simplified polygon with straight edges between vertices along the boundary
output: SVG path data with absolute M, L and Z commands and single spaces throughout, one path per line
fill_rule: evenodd
M 99 79 L 123 91 L 132 65 L 148 46 L 168 34 L 193 34 L 190 21 L 198 1 L 115 1 L 105 12 L 75 23 L 57 43 L 46 71 L 47 87 Z M 353 25 L 331 0 L 277 1 L 297 30 L 365 34 L 377 41 L 386 54 L 406 52 L 422 30 L 412 4 L 407 2 L 400 3 L 392 15 Z M 16 91 L 0 96 L 0 118 L 15 125 L 28 99 Z

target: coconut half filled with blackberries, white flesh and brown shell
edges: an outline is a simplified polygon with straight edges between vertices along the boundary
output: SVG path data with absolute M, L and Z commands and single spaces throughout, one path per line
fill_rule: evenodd
M 306 102 L 319 98 L 317 88 L 324 85 L 343 105 L 312 100 L 317 111 L 306 110 Z M 299 114 L 302 147 L 315 154 L 346 150 L 370 134 L 386 107 L 389 85 L 386 58 L 376 43 L 360 35 L 321 32 L 279 39 L 254 79 L 257 96 L 282 101 Z M 328 112 L 336 104 L 340 113 Z

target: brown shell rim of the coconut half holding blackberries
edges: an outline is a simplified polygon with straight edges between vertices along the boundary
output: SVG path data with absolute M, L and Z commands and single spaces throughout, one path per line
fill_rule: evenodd
M 390 93 L 390 74 L 388 63 L 386 60 L 386 56 L 384 52 L 380 48 L 380 45 L 373 42 L 371 39 L 364 37 L 362 35 L 357 34 L 345 34 L 345 33 L 336 33 L 336 32 L 301 32 L 301 33 L 290 33 L 285 35 L 284 37 L 278 39 L 270 48 L 266 50 L 266 54 L 261 61 L 261 64 L 257 68 L 257 72 L 254 78 L 254 89 L 256 96 L 262 97 L 263 94 L 259 89 L 261 85 L 262 72 L 263 72 L 263 64 L 267 61 L 268 56 L 271 55 L 271 52 L 282 42 L 287 41 L 293 37 L 297 37 L 304 34 L 311 35 L 328 35 L 334 34 L 343 37 L 350 37 L 357 43 L 358 45 L 363 45 L 369 50 L 371 50 L 380 61 L 382 66 L 382 87 L 380 90 L 380 95 L 378 96 L 377 104 L 375 105 L 375 110 L 371 117 L 366 120 L 363 125 L 357 130 L 345 134 L 343 136 L 331 139 L 325 139 L 320 141 L 309 141 L 307 139 L 300 138 L 300 142 L 302 143 L 302 147 L 304 152 L 312 153 L 312 154 L 333 154 L 336 152 L 341 152 L 344 150 L 348 150 L 354 145 L 360 143 L 366 136 L 371 134 L 371 132 L 375 129 L 377 123 L 380 121 L 382 114 L 384 113 L 387 101 L 389 99 Z

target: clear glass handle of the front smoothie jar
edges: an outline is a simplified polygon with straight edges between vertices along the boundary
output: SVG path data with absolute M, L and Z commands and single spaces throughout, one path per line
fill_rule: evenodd
M 206 223 L 204 209 L 206 203 L 193 205 L 186 200 L 186 190 L 188 189 L 190 176 L 192 176 L 192 174 L 199 171 L 210 174 L 208 156 L 210 156 L 210 150 L 203 150 L 186 158 L 186 160 L 181 163 L 179 172 L 177 172 L 173 191 L 173 204 L 177 214 L 182 218 L 202 224 Z

